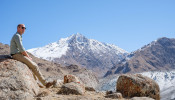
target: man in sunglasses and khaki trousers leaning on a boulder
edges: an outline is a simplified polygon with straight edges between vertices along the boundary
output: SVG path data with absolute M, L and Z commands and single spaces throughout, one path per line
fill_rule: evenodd
M 46 82 L 43 75 L 39 71 L 39 67 L 35 62 L 32 61 L 32 58 L 28 55 L 25 51 L 23 44 L 22 44 L 22 34 L 24 34 L 26 27 L 24 24 L 19 24 L 17 26 L 17 32 L 13 35 L 11 42 L 10 42 L 10 54 L 13 59 L 18 60 L 24 64 L 26 64 L 33 72 L 34 78 L 36 77 L 39 81 L 49 88 L 54 82 Z

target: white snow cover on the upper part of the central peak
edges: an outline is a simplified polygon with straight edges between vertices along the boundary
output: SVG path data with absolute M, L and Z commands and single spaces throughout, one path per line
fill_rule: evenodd
M 95 53 L 106 53 L 113 49 L 116 54 L 127 53 L 125 50 L 111 44 L 101 43 L 94 39 L 87 39 L 83 35 L 77 33 L 73 34 L 68 38 L 62 38 L 58 42 L 50 43 L 44 47 L 33 48 L 27 50 L 36 57 L 43 58 L 46 60 L 53 60 L 54 58 L 60 58 L 66 55 L 66 52 L 72 46 L 76 46 L 80 51 L 83 51 L 85 47 Z

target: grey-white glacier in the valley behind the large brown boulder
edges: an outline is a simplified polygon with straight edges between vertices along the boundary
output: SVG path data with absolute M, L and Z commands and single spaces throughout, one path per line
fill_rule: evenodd
M 138 73 L 155 80 L 160 87 L 161 100 L 175 99 L 175 70 L 174 71 L 156 71 Z M 113 75 L 100 80 L 100 85 L 97 87 L 99 91 L 107 91 L 116 89 L 118 75 Z

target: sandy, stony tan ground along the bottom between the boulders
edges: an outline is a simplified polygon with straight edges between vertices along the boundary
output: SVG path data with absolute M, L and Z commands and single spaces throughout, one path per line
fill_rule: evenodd
M 40 88 L 40 92 L 35 96 L 34 100 L 154 100 L 148 97 L 134 97 L 131 99 L 120 98 L 114 96 L 107 97 L 106 92 L 86 91 L 84 95 L 63 95 L 58 94 L 61 88 Z

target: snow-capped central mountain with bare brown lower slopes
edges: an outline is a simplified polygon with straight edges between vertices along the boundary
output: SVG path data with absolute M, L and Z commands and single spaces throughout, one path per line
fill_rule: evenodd
M 77 64 L 100 74 L 104 74 L 128 54 L 118 46 L 88 39 L 79 33 L 28 52 L 62 65 Z

